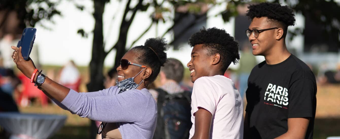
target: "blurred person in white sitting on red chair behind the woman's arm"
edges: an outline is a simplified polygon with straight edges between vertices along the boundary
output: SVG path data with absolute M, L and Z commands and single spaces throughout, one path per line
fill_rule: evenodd
M 67 62 L 61 69 L 58 76 L 58 83 L 74 91 L 79 91 L 81 76 L 73 60 Z

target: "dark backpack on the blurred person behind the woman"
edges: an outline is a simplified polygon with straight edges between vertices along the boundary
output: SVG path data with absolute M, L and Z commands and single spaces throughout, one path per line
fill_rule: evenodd
M 168 94 L 157 88 L 157 125 L 153 139 L 188 139 L 191 123 L 191 92 Z

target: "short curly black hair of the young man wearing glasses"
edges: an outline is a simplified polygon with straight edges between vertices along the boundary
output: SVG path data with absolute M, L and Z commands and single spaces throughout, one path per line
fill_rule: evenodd
M 248 6 L 249 10 L 246 16 L 253 20 L 255 17 L 267 17 L 269 20 L 274 20 L 287 28 L 295 24 L 295 15 L 288 6 L 281 6 L 278 3 L 263 2 L 259 4 L 251 4 Z

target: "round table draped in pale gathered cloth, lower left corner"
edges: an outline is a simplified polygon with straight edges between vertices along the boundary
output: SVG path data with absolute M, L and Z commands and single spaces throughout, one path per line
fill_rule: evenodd
M 10 139 L 46 139 L 65 123 L 66 116 L 26 113 L 0 113 L 0 126 Z

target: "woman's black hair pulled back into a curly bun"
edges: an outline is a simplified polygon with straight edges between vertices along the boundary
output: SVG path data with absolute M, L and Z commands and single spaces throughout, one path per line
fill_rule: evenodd
M 167 54 L 164 52 L 168 49 L 168 44 L 165 38 L 149 38 L 144 45 L 136 46 L 131 49 L 137 52 L 136 59 L 142 65 L 151 67 L 151 76 L 146 79 L 153 82 L 160 71 L 160 66 L 164 66 L 167 60 Z

